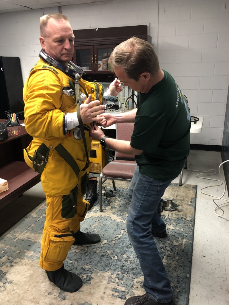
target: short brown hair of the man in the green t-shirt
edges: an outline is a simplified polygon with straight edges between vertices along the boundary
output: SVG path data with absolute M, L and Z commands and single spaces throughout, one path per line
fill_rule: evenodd
M 135 81 L 138 81 L 143 72 L 155 75 L 160 69 L 158 56 L 152 45 L 137 37 L 129 38 L 117 45 L 108 63 L 113 71 L 121 66 L 128 77 Z

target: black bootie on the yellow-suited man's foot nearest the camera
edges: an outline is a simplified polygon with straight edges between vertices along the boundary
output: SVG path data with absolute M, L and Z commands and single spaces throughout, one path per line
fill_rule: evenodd
M 82 279 L 64 269 L 64 265 L 55 271 L 45 271 L 48 275 L 49 281 L 53 282 L 61 290 L 67 292 L 76 292 L 82 286 Z

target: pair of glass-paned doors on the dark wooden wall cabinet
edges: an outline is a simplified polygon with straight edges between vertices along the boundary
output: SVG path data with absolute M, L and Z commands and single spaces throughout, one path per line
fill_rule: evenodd
M 107 63 L 115 45 L 77 46 L 74 49 L 73 62 L 86 74 L 112 73 Z

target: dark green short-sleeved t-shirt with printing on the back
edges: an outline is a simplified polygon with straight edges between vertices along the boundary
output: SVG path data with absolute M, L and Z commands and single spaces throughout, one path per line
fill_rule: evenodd
M 191 118 L 183 93 L 173 77 L 164 77 L 148 93 L 138 93 L 130 145 L 139 172 L 159 181 L 176 178 L 189 154 Z

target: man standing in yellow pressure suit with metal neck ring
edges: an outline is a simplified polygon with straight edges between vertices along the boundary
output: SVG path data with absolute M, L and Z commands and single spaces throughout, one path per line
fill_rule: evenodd
M 83 199 L 89 173 L 89 128 L 96 116 L 104 113 L 103 87 L 84 81 L 81 68 L 69 63 L 74 34 L 66 16 L 42 16 L 40 34 L 40 59 L 23 90 L 24 123 L 33 137 L 24 158 L 41 173 L 46 195 L 40 267 L 60 289 L 75 292 L 82 280 L 64 269 L 67 253 L 72 245 L 100 241 L 98 234 L 82 233 L 80 221 L 89 207 Z M 115 79 L 108 95 L 116 96 L 121 90 L 120 81 Z

